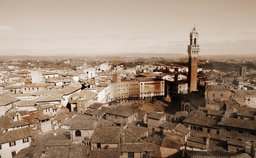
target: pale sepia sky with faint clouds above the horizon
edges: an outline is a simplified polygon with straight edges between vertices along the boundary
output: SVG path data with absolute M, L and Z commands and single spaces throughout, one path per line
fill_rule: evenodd
M 256 0 L 0 0 L 0 55 L 255 54 Z

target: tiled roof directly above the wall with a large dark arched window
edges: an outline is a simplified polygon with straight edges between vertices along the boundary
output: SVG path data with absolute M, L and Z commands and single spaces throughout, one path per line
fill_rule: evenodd
M 70 130 L 93 130 L 96 126 L 96 121 L 72 121 L 69 127 Z

